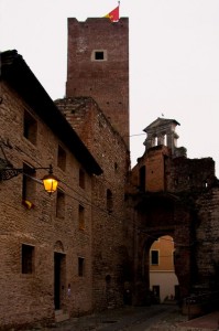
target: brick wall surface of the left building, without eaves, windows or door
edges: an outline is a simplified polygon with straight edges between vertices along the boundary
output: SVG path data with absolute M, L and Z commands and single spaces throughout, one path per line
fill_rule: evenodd
M 54 167 L 65 193 L 65 212 L 56 217 L 56 193 L 51 196 L 35 185 L 33 209 L 22 204 L 22 175 L 0 183 L 1 270 L 0 325 L 54 321 L 54 253 L 62 256 L 61 309 L 77 316 L 92 310 L 91 296 L 91 177 L 85 171 L 85 190 L 79 186 L 79 168 L 69 150 L 42 122 L 34 110 L 12 89 L 1 84 L 0 141 L 15 168 Z M 37 142 L 23 137 L 24 109 L 37 121 Z M 58 145 L 66 151 L 66 171 L 57 167 Z M 2 153 L 0 156 L 3 157 Z M 42 179 L 45 170 L 37 170 Z M 78 226 L 78 205 L 85 207 L 85 229 Z M 22 274 L 22 244 L 34 247 L 34 271 Z M 78 257 L 85 258 L 85 276 L 78 277 Z M 70 295 L 67 288 L 70 286 Z

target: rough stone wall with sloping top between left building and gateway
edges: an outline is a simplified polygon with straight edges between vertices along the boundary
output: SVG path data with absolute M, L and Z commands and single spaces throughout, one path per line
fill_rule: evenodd
M 125 281 L 123 227 L 129 152 L 94 99 L 68 97 L 56 104 L 103 169 L 103 174 L 92 180 L 94 307 L 118 307 L 123 302 Z M 107 190 L 112 193 L 111 211 L 107 207 Z

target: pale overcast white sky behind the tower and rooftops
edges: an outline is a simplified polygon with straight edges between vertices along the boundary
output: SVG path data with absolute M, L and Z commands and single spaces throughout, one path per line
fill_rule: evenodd
M 17 50 L 52 99 L 65 97 L 67 18 L 102 18 L 112 0 L 0 0 L 0 51 Z M 130 151 L 157 117 L 179 122 L 177 147 L 212 158 L 219 178 L 219 0 L 121 0 L 129 18 Z M 101 32 L 100 32 L 101 33 Z

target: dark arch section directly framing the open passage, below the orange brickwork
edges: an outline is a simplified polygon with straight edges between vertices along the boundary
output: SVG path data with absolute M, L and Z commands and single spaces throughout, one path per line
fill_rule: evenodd
M 179 297 L 187 297 L 196 269 L 193 258 L 193 213 L 188 204 L 172 194 L 150 193 L 139 196 L 134 210 L 134 305 L 145 305 L 150 300 L 149 250 L 152 243 L 164 235 L 174 238 Z

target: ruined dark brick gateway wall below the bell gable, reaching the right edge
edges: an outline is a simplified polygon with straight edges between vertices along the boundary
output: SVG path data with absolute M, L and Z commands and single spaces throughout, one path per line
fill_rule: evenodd
M 143 167 L 144 183 L 141 182 Z M 135 209 L 131 217 L 136 228 L 133 236 L 136 247 L 133 249 L 138 250 L 134 257 L 136 302 L 143 300 L 142 290 L 149 287 L 149 249 L 162 235 L 171 235 L 175 243 L 175 273 L 182 298 L 197 289 L 218 290 L 219 186 L 215 161 L 174 157 L 161 145 L 138 160 L 131 183 L 128 202 L 130 211 Z

